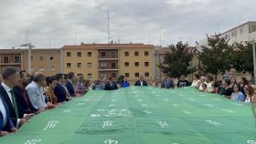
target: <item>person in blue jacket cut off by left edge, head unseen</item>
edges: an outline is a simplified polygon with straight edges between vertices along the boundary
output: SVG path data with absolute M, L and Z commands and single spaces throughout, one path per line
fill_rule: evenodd
M 3 137 L 9 132 L 16 132 L 12 119 L 9 116 L 9 109 L 5 104 L 3 96 L 0 94 L 0 137 Z

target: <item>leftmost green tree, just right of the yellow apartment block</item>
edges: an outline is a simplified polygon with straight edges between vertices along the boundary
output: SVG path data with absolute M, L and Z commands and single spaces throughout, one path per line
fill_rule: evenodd
M 193 53 L 189 51 L 187 44 L 178 42 L 176 46 L 170 45 L 168 48 L 169 52 L 165 55 L 164 62 L 158 66 L 165 74 L 169 77 L 180 77 L 195 72 L 195 67 L 190 65 Z

